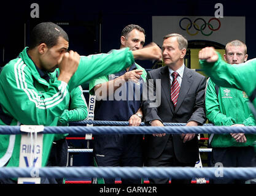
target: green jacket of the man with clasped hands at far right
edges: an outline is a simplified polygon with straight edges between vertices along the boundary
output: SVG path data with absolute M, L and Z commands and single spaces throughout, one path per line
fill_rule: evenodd
M 206 117 L 215 126 L 244 124 L 255 126 L 256 121 L 248 106 L 249 99 L 244 91 L 235 88 L 219 87 L 218 96 L 215 83 L 208 81 L 206 88 Z M 253 146 L 255 135 L 246 134 L 246 143 L 239 143 L 230 134 L 214 134 L 212 147 Z

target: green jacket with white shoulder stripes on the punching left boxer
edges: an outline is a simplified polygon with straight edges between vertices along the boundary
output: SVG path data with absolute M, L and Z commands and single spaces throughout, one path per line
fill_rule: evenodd
M 42 79 L 27 48 L 10 61 L 0 74 L 0 104 L 10 125 L 56 126 L 69 104 L 69 92 L 93 78 L 119 72 L 133 62 L 129 48 L 113 50 L 109 54 L 81 56 L 79 67 L 68 85 L 50 75 L 49 83 Z M 0 125 L 5 125 L 0 118 Z M 47 163 L 54 134 L 44 134 L 42 166 Z M 0 135 L 0 167 L 19 165 L 20 135 Z

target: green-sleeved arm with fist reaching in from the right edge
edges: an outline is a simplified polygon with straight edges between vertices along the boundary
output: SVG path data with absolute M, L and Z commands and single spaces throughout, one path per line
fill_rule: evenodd
M 223 61 L 213 47 L 199 51 L 201 68 L 219 86 L 227 86 L 245 91 L 250 102 L 256 108 L 256 58 L 239 65 L 230 65 Z

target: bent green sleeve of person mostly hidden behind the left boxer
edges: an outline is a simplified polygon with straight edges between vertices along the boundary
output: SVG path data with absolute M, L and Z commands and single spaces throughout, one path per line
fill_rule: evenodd
M 64 110 L 60 116 L 58 125 L 65 126 L 69 122 L 82 121 L 87 118 L 87 113 L 87 103 L 83 96 L 82 87 L 78 86 L 77 88 L 72 89 L 70 108 Z

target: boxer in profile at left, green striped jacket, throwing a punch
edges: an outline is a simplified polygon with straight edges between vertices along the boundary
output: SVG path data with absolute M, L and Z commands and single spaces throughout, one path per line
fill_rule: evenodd
M 141 50 L 113 50 L 109 54 L 79 56 L 68 50 L 68 35 L 54 23 L 40 23 L 30 45 L 10 61 L 0 74 L 0 125 L 56 126 L 69 104 L 69 94 L 87 81 L 129 67 L 134 59 L 161 59 L 155 44 Z M 56 78 L 48 74 L 59 67 Z M 50 78 L 45 80 L 37 69 Z M 42 167 L 45 166 L 54 134 L 44 134 Z M 18 167 L 20 135 L 0 135 L 0 167 Z

